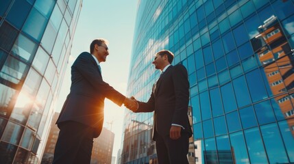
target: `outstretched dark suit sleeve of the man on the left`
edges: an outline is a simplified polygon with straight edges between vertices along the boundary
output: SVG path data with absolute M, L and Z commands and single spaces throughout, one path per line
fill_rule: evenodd
M 121 106 L 123 100 L 125 100 L 125 96 L 103 81 L 101 74 L 99 74 L 97 66 L 93 64 L 91 57 L 90 53 L 82 53 L 75 60 L 73 67 L 75 67 L 82 76 L 96 88 L 97 92 L 101 92 L 106 98 Z

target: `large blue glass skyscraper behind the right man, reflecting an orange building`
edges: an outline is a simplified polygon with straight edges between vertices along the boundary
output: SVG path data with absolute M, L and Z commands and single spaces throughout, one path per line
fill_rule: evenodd
M 127 94 L 156 52 L 188 70 L 195 163 L 294 163 L 294 1 L 139 1 Z M 121 163 L 157 163 L 153 113 L 125 113 Z

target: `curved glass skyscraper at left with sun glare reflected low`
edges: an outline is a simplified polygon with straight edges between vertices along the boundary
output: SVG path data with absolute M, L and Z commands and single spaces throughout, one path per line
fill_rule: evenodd
M 0 0 L 0 163 L 40 163 L 82 0 Z

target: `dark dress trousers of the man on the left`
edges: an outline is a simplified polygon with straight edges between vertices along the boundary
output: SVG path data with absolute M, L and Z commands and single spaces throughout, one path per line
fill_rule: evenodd
M 79 122 L 58 124 L 60 133 L 56 143 L 53 164 L 90 163 L 93 148 L 93 128 Z

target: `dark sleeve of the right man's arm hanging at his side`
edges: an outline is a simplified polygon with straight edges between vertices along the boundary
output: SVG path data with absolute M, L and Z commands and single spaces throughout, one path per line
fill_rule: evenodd
M 173 70 L 173 85 L 175 90 L 175 112 L 173 113 L 173 124 L 186 124 L 189 100 L 188 73 L 184 66 L 177 65 Z

